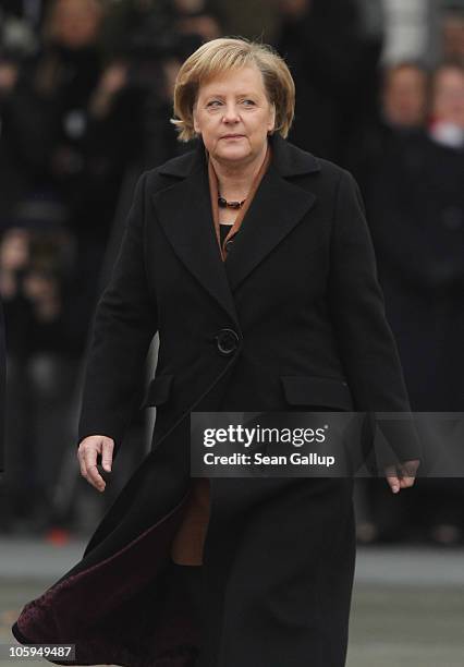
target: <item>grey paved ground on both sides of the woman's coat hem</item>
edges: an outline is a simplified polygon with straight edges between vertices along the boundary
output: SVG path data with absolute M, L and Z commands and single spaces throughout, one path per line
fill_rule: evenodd
M 84 546 L 0 539 L 0 643 L 14 642 L 10 627 L 23 604 L 70 569 Z M 39 664 L 50 665 L 0 659 L 0 667 Z M 463 665 L 464 549 L 358 548 L 346 667 Z

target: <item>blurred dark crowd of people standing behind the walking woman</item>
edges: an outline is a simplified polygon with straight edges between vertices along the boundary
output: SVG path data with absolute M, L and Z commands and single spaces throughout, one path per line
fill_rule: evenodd
M 137 177 L 191 149 L 179 66 L 223 35 L 285 57 L 290 141 L 356 177 L 413 410 L 464 412 L 464 0 L 1 0 L 0 534 L 91 530 L 147 451 L 135 415 L 105 494 L 80 476 L 89 324 Z M 359 542 L 463 543 L 463 480 L 356 484 Z

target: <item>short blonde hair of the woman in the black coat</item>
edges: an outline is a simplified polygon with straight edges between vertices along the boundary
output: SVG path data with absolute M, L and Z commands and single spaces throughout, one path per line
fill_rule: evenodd
M 193 110 L 203 83 L 228 70 L 256 65 L 262 74 L 270 104 L 276 107 L 274 132 L 284 138 L 295 113 L 295 84 L 284 60 L 266 44 L 245 38 L 221 37 L 199 47 L 181 66 L 174 87 L 174 116 L 171 122 L 179 141 L 197 136 Z

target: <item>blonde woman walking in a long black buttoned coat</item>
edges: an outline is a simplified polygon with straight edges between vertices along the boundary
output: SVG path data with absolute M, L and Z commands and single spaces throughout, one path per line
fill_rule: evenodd
M 109 471 L 158 331 L 151 451 L 83 559 L 25 606 L 20 642 L 74 643 L 71 664 L 344 665 L 353 480 L 190 476 L 193 411 L 408 410 L 359 192 L 286 143 L 293 109 L 265 46 L 217 39 L 182 66 L 180 137 L 200 141 L 139 179 L 80 423 L 82 474 L 103 490 L 98 457 Z

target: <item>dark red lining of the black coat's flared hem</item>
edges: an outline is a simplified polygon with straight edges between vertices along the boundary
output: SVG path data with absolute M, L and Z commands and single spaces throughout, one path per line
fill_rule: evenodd
M 188 496 L 119 551 L 28 603 L 12 628 L 17 641 L 75 644 L 76 659 L 49 659 L 57 665 L 193 665 L 199 632 L 184 592 L 169 585 L 170 545 Z

